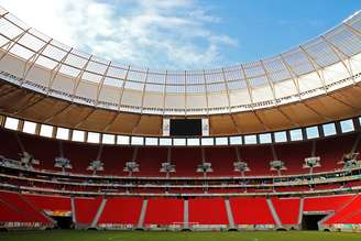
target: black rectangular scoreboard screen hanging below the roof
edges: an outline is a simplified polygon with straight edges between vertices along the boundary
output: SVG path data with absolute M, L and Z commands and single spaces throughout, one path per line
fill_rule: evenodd
M 201 119 L 171 119 L 171 136 L 196 135 L 201 135 Z

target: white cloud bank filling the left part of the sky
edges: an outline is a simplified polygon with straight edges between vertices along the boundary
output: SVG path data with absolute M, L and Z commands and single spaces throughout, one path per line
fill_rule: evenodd
M 196 0 L 0 0 L 30 26 L 80 51 L 153 68 L 228 64 L 237 40 L 212 31 L 221 19 Z

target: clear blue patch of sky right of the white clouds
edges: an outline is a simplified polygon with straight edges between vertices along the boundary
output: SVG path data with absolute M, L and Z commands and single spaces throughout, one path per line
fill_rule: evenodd
M 228 0 L 215 4 L 215 15 L 239 46 L 225 50 L 230 62 L 249 62 L 297 46 L 339 24 L 361 9 L 360 0 Z

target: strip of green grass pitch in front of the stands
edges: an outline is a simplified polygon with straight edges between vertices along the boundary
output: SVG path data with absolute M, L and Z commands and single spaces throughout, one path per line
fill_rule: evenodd
M 124 231 L 14 231 L 1 241 L 352 241 L 361 233 L 339 232 L 124 232 Z

